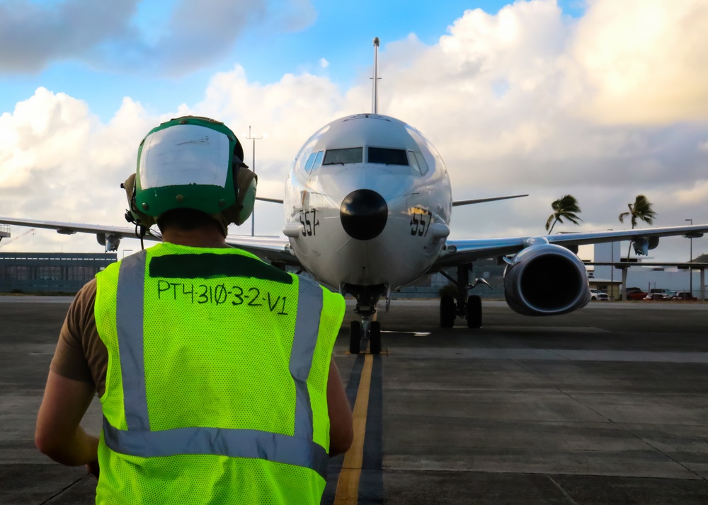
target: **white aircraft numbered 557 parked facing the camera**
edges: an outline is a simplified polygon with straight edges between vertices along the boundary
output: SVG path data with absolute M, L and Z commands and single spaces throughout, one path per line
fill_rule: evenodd
M 440 325 L 458 316 L 481 326 L 481 299 L 468 296 L 474 260 L 506 262 L 504 291 L 510 308 L 524 315 L 569 313 L 590 300 L 578 245 L 632 240 L 637 254 L 656 248 L 662 236 L 700 237 L 708 225 L 645 228 L 632 231 L 564 233 L 450 240 L 452 207 L 523 197 L 453 201 L 442 158 L 421 132 L 394 117 L 377 113 L 377 50 L 374 39 L 373 112 L 342 117 L 315 132 L 302 146 L 285 181 L 286 238 L 229 236 L 227 242 L 277 265 L 307 270 L 319 281 L 356 298 L 360 321 L 351 323 L 350 352 L 381 349 L 377 303 L 423 275 L 457 267 L 457 296 L 442 296 Z M 59 233 L 96 233 L 106 250 L 116 250 L 133 228 L 33 221 L 0 217 L 0 224 L 50 228 Z M 145 238 L 159 240 L 159 231 Z M 455 280 L 455 279 L 452 279 Z

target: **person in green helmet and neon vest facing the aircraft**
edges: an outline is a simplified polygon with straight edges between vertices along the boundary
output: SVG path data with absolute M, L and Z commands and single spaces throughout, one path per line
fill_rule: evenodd
M 328 455 L 351 444 L 331 357 L 342 296 L 225 242 L 253 209 L 243 158 L 220 122 L 152 129 L 125 190 L 130 218 L 163 242 L 69 308 L 35 443 L 87 465 L 97 504 L 319 503 Z M 96 393 L 99 438 L 79 425 Z

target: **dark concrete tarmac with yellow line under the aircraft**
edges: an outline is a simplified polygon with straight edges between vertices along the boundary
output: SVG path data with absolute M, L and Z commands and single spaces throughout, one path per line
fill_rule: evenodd
M 0 296 L 0 504 L 93 503 L 96 480 L 33 443 L 70 301 Z M 335 359 L 365 405 L 361 455 L 331 460 L 323 503 L 708 503 L 708 303 L 530 318 L 483 301 L 469 330 L 440 328 L 438 301 L 393 301 L 379 356 L 348 354 L 351 308 Z

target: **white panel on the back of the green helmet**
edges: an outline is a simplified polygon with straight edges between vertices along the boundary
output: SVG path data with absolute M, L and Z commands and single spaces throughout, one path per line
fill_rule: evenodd
M 214 185 L 226 187 L 229 137 L 198 124 L 181 124 L 148 135 L 138 163 L 140 186 Z

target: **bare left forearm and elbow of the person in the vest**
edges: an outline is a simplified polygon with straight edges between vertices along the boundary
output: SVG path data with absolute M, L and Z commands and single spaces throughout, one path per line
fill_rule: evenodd
M 79 424 L 96 393 L 93 384 L 50 371 L 37 416 L 35 445 L 64 465 L 89 465 L 98 460 L 98 438 Z

